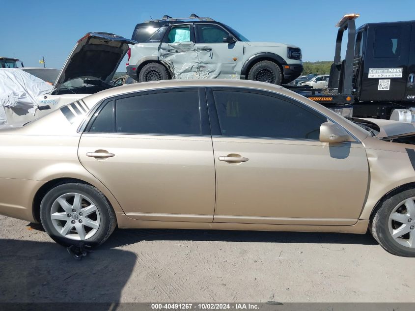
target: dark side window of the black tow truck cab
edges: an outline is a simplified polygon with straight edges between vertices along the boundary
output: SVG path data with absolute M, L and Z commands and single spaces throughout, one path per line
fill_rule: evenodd
M 401 44 L 400 26 L 380 26 L 375 28 L 374 57 L 399 57 Z

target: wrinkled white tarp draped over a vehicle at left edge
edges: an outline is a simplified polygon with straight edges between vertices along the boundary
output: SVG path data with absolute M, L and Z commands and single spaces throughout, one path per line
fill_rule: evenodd
M 13 68 L 0 69 L 0 124 L 7 123 L 5 109 L 23 109 L 34 114 L 36 99 L 52 90 L 49 83 Z

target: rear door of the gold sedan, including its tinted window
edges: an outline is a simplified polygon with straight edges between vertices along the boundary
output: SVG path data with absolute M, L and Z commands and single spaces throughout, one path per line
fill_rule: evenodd
M 212 222 L 215 168 L 203 98 L 198 88 L 145 91 L 94 113 L 79 159 L 128 217 Z

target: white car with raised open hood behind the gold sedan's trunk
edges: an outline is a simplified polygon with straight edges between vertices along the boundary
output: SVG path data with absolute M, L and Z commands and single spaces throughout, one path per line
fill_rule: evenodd
M 128 51 L 128 44 L 134 43 L 112 33 L 86 33 L 69 54 L 49 92 L 36 98 L 39 109 L 36 114 L 14 115 L 8 123 L 31 121 L 62 105 L 116 86 L 112 77 Z

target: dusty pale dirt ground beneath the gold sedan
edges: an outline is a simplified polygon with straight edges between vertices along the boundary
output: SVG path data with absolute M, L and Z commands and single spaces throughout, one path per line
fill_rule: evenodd
M 369 234 L 124 229 L 79 261 L 0 216 L 0 249 L 0 302 L 415 302 Z

